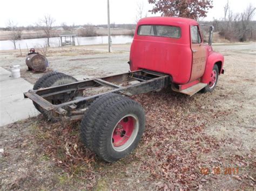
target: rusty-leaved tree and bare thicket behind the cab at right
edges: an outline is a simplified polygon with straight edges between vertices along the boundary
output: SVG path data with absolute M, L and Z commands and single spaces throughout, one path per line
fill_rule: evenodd
M 221 37 L 229 41 L 256 40 L 256 22 L 252 21 L 255 7 L 249 4 L 241 12 L 233 12 L 227 0 L 223 7 L 223 19 L 214 19 L 211 22 L 200 22 L 200 18 L 207 16 L 208 10 L 213 8 L 212 0 L 148 0 L 153 4 L 151 13 L 161 13 L 167 17 L 185 17 L 196 19 L 199 23 L 211 24 Z

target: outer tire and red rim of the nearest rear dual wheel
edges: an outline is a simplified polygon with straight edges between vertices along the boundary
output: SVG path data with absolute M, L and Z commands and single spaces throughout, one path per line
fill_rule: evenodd
M 95 124 L 93 151 L 107 162 L 114 162 L 137 147 L 145 129 L 145 112 L 142 106 L 124 98 L 100 115 Z

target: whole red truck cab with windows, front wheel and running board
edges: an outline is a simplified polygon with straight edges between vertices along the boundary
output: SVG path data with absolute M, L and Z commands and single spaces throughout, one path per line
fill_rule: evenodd
M 172 89 L 188 95 L 201 89 L 212 91 L 218 75 L 224 73 L 224 56 L 213 51 L 211 42 L 204 44 L 199 23 L 179 17 L 140 19 L 129 63 L 131 71 L 147 69 L 170 75 Z

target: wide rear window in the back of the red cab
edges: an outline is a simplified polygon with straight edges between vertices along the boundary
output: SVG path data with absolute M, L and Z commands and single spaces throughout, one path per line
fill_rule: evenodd
M 140 25 L 137 34 L 140 36 L 180 38 L 181 29 L 177 26 Z

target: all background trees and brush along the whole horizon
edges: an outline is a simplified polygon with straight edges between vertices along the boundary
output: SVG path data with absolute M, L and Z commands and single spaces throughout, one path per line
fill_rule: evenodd
M 230 41 L 247 41 L 256 40 L 256 22 L 253 21 L 255 14 L 255 8 L 252 4 L 248 5 L 247 8 L 239 13 L 235 13 L 231 10 L 230 3 L 226 2 L 223 8 L 223 19 L 214 19 L 211 22 L 200 22 L 201 18 L 207 16 L 208 10 L 213 8 L 212 0 L 148 0 L 150 4 L 153 4 L 152 10 L 145 10 L 145 6 L 142 3 L 137 4 L 137 14 L 135 17 L 135 23 L 139 19 L 146 17 L 147 13 L 150 12 L 160 13 L 163 17 L 185 17 L 192 18 L 199 21 L 199 23 L 211 24 L 214 26 L 215 32 Z M 55 19 L 50 15 L 45 15 L 43 18 L 39 19 L 35 26 L 27 27 L 17 27 L 17 24 L 9 20 L 6 28 L 2 30 L 11 31 L 11 41 L 16 49 L 16 41 L 21 39 L 22 30 L 41 30 L 44 32 L 47 38 L 47 46 L 50 46 L 49 39 L 52 37 L 53 25 L 55 24 Z M 55 26 L 56 27 L 56 26 Z M 66 25 L 62 23 L 60 26 L 65 31 L 74 31 L 78 26 Z M 79 36 L 97 36 L 95 31 L 95 25 L 87 24 L 80 27 L 79 25 Z M 107 25 L 97 25 L 97 27 L 107 27 Z M 135 29 L 136 24 L 111 24 L 112 28 L 120 27 L 125 29 Z

